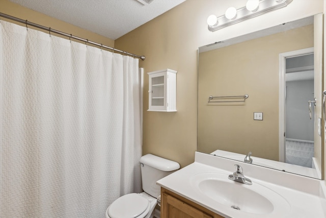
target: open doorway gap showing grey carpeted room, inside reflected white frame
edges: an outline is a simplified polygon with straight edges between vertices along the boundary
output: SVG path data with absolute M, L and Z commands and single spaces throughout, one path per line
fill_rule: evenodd
M 314 54 L 285 58 L 285 162 L 312 167 Z

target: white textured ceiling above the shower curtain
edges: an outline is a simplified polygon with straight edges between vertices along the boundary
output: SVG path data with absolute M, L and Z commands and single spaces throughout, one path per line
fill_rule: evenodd
M 10 0 L 26 8 L 117 39 L 185 0 Z

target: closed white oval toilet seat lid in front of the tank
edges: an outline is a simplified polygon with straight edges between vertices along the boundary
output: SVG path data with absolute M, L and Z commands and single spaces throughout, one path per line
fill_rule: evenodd
M 111 218 L 143 218 L 150 210 L 150 202 L 137 193 L 130 193 L 115 200 L 108 208 Z

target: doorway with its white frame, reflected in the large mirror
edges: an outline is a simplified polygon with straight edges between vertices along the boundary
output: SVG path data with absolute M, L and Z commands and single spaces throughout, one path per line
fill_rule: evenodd
M 316 139 L 318 144 L 320 138 L 316 137 L 316 132 L 320 133 L 318 122 L 321 117 L 318 110 L 320 87 L 316 85 L 316 78 L 319 78 L 321 73 L 315 70 L 314 55 L 313 47 L 279 55 L 279 160 L 313 168 Z M 313 103 L 315 98 L 318 99 L 316 107 Z M 308 104 L 308 101 L 311 104 Z M 298 129 L 301 133 L 298 133 Z M 288 148 L 286 142 L 290 144 Z M 298 143 L 303 143 L 303 146 L 297 148 Z

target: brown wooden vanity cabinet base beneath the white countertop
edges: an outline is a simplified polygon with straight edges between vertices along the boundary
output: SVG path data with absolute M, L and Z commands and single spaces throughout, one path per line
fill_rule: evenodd
M 223 218 L 205 207 L 161 188 L 161 218 Z

